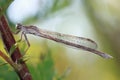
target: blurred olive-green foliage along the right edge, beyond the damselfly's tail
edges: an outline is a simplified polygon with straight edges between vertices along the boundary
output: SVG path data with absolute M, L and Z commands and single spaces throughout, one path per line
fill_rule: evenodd
M 104 45 L 103 49 L 114 57 L 112 68 L 119 80 L 120 66 L 120 1 L 119 0 L 84 0 L 84 7 L 94 25 L 96 37 Z

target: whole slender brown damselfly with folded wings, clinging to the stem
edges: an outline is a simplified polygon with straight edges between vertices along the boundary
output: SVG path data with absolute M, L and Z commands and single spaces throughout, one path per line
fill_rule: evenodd
M 28 41 L 26 34 L 32 34 L 35 36 L 43 37 L 43 38 L 46 38 L 46 39 L 49 39 L 49 40 L 52 40 L 52 41 L 55 41 L 58 43 L 63 43 L 65 45 L 68 45 L 71 47 L 75 47 L 78 49 L 82 49 L 84 51 L 88 51 L 88 52 L 97 54 L 106 59 L 112 58 L 111 55 L 106 54 L 101 51 L 98 51 L 97 43 L 89 38 L 78 37 L 78 36 L 73 36 L 73 35 L 68 35 L 68 34 L 62 34 L 62 33 L 58 33 L 58 32 L 52 32 L 52 31 L 48 31 L 45 29 L 40 29 L 33 25 L 25 26 L 25 25 L 18 23 L 16 25 L 16 34 L 18 34 L 20 32 L 21 32 L 21 38 L 19 41 L 21 41 L 22 37 L 24 36 L 25 40 L 27 42 L 27 45 L 28 45 L 28 49 L 30 47 L 30 43 Z

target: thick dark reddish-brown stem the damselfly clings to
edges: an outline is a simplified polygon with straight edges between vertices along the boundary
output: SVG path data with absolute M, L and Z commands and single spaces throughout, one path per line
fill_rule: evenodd
M 0 10 L 1 12 L 1 10 Z M 6 50 L 9 52 L 10 48 L 16 43 L 15 39 L 12 35 L 12 32 L 10 31 L 10 28 L 8 26 L 7 20 L 4 15 L 0 16 L 0 32 L 1 32 L 1 37 L 3 40 L 3 44 L 5 45 Z M 18 48 L 13 52 L 11 55 L 11 59 L 13 62 L 16 62 L 22 57 L 20 51 Z M 28 68 L 26 64 L 23 62 L 20 64 L 21 69 L 18 70 L 17 74 L 20 77 L 20 80 L 32 80 L 32 77 L 28 71 Z M 29 75 L 27 75 L 29 74 Z

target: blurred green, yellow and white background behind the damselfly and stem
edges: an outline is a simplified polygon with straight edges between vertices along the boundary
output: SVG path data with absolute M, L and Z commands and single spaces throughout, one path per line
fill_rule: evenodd
M 33 80 L 119 80 L 119 0 L 14 0 L 6 11 L 11 30 L 15 24 L 87 37 L 98 50 L 112 55 L 103 59 L 37 36 L 28 35 L 30 49 L 25 58 Z M 20 38 L 15 35 L 16 40 Z M 21 52 L 27 47 L 19 43 Z M 0 49 L 5 52 L 0 39 Z M 1 63 L 4 62 L 2 59 Z M 0 66 L 0 80 L 19 80 L 9 65 Z

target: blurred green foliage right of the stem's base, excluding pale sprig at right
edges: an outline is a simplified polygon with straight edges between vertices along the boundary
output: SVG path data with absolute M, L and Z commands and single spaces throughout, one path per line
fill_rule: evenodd
M 53 80 L 55 75 L 54 62 L 51 56 L 51 52 L 42 53 L 39 57 L 40 63 L 35 67 L 29 65 L 29 70 L 34 80 Z M 31 63 L 32 64 L 32 63 Z

